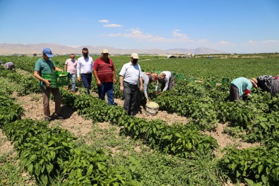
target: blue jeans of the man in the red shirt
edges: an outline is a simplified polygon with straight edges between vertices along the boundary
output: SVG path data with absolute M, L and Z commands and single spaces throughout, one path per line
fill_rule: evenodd
M 98 95 L 99 98 L 102 100 L 105 100 L 105 94 L 107 93 L 107 102 L 109 105 L 114 105 L 114 100 L 113 100 L 113 83 L 102 83 L 101 86 L 97 86 L 98 88 Z

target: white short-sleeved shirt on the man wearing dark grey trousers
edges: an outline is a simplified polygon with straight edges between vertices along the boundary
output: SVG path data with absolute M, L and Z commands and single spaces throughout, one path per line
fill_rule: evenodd
M 139 64 L 133 65 L 131 62 L 126 63 L 122 66 L 119 75 L 124 77 L 126 83 L 136 85 L 140 77 L 142 77 L 141 66 Z

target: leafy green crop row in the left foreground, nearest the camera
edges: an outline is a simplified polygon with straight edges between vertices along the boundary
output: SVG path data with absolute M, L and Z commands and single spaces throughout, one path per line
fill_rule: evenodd
M 0 127 L 18 152 L 20 161 L 37 184 L 50 185 L 62 180 L 64 185 L 139 185 L 129 170 L 107 165 L 102 151 L 78 148 L 76 137 L 45 122 L 20 120 L 23 108 L 8 95 L 0 95 Z

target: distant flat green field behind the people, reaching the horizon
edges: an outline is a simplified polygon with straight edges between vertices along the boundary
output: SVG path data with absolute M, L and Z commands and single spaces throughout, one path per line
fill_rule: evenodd
M 76 56 L 78 59 L 79 56 Z M 100 56 L 92 56 L 96 59 Z M 37 61 L 39 57 L 0 57 L 4 62 L 16 62 L 18 65 L 30 64 Z M 59 62 L 58 66 L 63 67 L 69 56 L 56 56 L 52 59 Z M 129 56 L 111 56 L 116 66 L 116 71 L 129 62 Z M 169 70 L 175 73 L 184 74 L 186 77 L 197 79 L 230 79 L 244 76 L 247 78 L 263 74 L 277 75 L 279 70 L 279 57 L 254 57 L 254 58 L 191 58 L 191 59 L 167 59 L 162 56 L 140 56 L 139 62 L 143 71 L 164 71 Z M 32 68 L 33 66 L 30 66 Z

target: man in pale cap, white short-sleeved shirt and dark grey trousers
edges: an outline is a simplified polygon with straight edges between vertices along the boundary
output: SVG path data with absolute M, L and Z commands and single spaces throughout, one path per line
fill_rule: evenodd
M 137 96 L 143 90 L 143 79 L 141 66 L 138 65 L 138 54 L 131 54 L 131 62 L 122 66 L 119 73 L 120 91 L 124 91 L 124 109 L 132 117 L 136 115 L 136 108 L 139 107 Z M 138 83 L 140 88 L 138 90 Z

